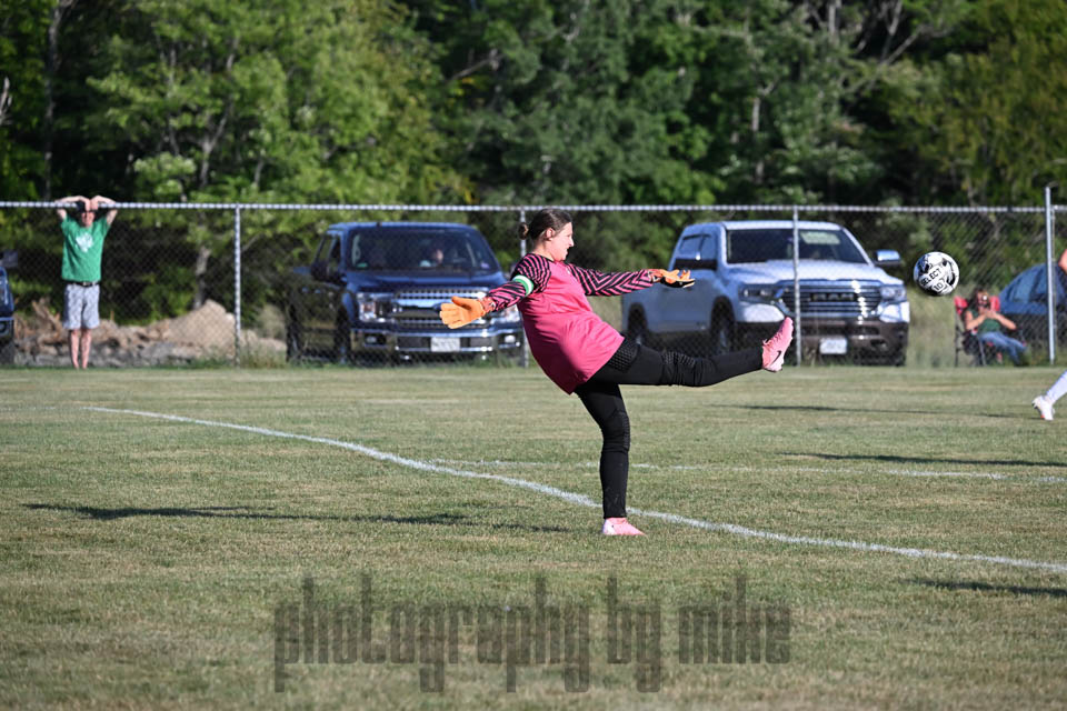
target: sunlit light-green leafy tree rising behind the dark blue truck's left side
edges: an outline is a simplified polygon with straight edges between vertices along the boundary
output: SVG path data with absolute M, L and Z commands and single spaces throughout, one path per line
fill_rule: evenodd
M 93 136 L 133 157 L 143 200 L 455 201 L 440 156 L 425 40 L 372 0 L 129 0 L 107 43 Z M 293 213 L 249 217 L 299 231 Z M 193 248 L 193 306 L 232 217 L 180 212 Z M 146 223 L 146 228 L 150 228 Z

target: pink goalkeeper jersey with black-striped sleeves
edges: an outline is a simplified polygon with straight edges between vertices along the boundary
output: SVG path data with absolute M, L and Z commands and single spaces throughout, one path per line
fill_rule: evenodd
M 488 296 L 497 310 L 518 302 L 530 352 L 568 394 L 600 370 L 622 343 L 622 336 L 594 313 L 586 294 L 618 296 L 652 283 L 648 270 L 604 274 L 539 254 L 523 257 L 515 272 L 534 284 L 529 296 L 516 281 Z

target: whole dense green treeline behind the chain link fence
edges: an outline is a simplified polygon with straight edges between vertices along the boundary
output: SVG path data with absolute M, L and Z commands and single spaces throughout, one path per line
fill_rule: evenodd
M 1058 0 L 9 4 L 6 199 L 988 204 L 1067 184 Z M 328 217 L 246 213 L 246 248 L 270 222 L 306 251 Z M 170 262 L 122 286 L 139 313 L 217 298 L 231 220 L 169 218 Z M 123 221 L 131 250 L 160 239 L 158 214 Z M 602 268 L 664 259 L 677 229 L 582 224 Z M 506 234 L 490 238 L 507 262 Z M 283 270 L 261 259 L 262 279 Z

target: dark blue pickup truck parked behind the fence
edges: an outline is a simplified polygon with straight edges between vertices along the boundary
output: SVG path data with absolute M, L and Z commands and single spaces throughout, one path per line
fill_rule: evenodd
M 330 226 L 310 264 L 293 270 L 286 308 L 287 358 L 335 362 L 516 359 L 515 307 L 463 328 L 441 323 L 450 297 L 478 299 L 506 281 L 486 238 L 451 222 Z

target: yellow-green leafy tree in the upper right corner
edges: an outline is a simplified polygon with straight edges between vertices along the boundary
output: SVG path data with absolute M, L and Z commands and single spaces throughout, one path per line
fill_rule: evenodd
M 936 177 L 927 194 L 1033 204 L 1045 184 L 1067 184 L 1065 56 L 1067 4 L 990 0 L 947 46 L 914 58 L 889 91 L 900 140 Z

